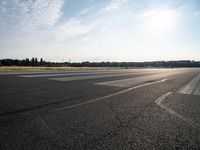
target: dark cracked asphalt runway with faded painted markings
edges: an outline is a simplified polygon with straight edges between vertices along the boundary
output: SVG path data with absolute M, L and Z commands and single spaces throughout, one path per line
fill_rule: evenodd
M 200 149 L 200 69 L 0 72 L 0 149 Z

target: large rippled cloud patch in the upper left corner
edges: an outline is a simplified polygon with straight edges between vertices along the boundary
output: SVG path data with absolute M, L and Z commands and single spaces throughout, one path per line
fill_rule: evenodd
M 64 0 L 1 0 L 0 19 L 23 30 L 52 26 L 62 15 Z

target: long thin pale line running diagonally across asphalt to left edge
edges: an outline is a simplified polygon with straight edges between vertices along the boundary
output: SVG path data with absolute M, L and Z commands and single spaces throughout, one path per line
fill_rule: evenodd
M 83 105 L 86 105 L 86 104 L 95 103 L 97 101 L 101 101 L 101 100 L 104 100 L 106 98 L 110 98 L 110 97 L 113 97 L 113 96 L 124 94 L 126 92 L 129 92 L 129 91 L 134 90 L 134 89 L 138 89 L 140 87 L 145 87 L 145 86 L 149 86 L 149 85 L 153 85 L 153 84 L 157 84 L 157 83 L 162 83 L 162 82 L 165 82 L 166 80 L 167 79 L 162 79 L 162 80 L 151 82 L 151 83 L 141 84 L 141 85 L 130 87 L 128 89 L 125 89 L 125 90 L 122 90 L 122 91 L 119 91 L 119 92 L 116 92 L 116 93 L 113 93 L 113 94 L 109 94 L 109 95 L 106 95 L 106 96 L 103 96 L 103 97 L 94 98 L 94 99 L 91 99 L 91 100 L 88 100 L 88 101 L 85 101 L 85 102 L 82 102 L 82 103 L 79 103 L 79 104 L 74 104 L 74 105 L 71 105 L 71 106 L 57 108 L 57 109 L 50 110 L 50 111 L 47 111 L 47 112 L 39 112 L 39 113 L 35 113 L 35 114 L 29 114 L 29 115 L 26 115 L 26 116 L 20 116 L 19 115 L 16 118 L 8 119 L 8 120 L 4 120 L 4 121 L 0 122 L 0 126 L 5 126 L 7 123 L 23 121 L 23 120 L 28 119 L 28 118 L 35 118 L 35 117 L 38 117 L 39 115 L 51 114 L 51 113 L 56 113 L 56 112 L 63 111 L 63 110 L 74 109 L 74 108 L 77 108 L 77 107 L 80 107 L 80 106 L 83 106 Z M 16 114 L 20 114 L 20 113 L 16 113 Z

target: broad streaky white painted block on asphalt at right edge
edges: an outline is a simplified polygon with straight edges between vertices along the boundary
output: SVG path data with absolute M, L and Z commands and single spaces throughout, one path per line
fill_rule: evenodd
M 178 90 L 177 93 L 200 95 L 200 73 L 192 81 Z

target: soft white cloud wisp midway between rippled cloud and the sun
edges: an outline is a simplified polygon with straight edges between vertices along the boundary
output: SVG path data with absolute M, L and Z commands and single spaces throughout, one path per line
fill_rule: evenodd
M 55 29 L 57 41 L 63 41 L 67 38 L 76 37 L 89 33 L 94 29 L 94 24 L 83 25 L 78 19 L 71 19 Z

